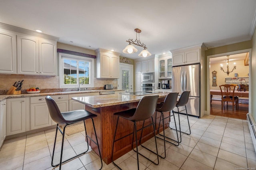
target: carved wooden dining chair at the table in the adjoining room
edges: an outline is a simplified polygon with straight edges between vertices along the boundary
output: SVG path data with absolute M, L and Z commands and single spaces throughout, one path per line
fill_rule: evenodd
M 225 84 L 220 85 L 220 92 L 221 92 L 221 109 L 225 107 L 225 102 L 232 102 L 232 111 L 234 111 L 234 105 L 236 105 L 236 109 L 238 110 L 238 97 L 234 95 L 235 93 L 235 85 Z

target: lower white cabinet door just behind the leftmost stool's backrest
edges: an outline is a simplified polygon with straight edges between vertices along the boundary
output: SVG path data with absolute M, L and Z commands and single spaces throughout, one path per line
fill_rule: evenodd
M 36 103 L 30 105 L 30 125 L 31 130 L 52 125 L 52 119 L 46 103 Z

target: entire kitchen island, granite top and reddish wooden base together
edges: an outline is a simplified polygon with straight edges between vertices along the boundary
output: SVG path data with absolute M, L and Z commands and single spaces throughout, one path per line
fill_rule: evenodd
M 154 94 L 159 95 L 158 102 L 164 101 L 166 95 L 168 93 L 159 93 Z M 116 127 L 117 116 L 114 116 L 114 113 L 119 111 L 124 111 L 127 109 L 136 108 L 140 99 L 144 96 L 134 96 L 134 95 L 122 95 L 122 94 L 113 94 L 113 95 L 104 95 L 104 96 L 85 96 L 85 97 L 72 97 L 73 100 L 83 103 L 85 105 L 85 110 L 90 111 L 97 115 L 94 118 L 94 123 L 96 127 L 96 133 L 98 137 L 98 142 L 100 145 L 100 151 L 102 154 L 102 159 L 106 164 L 112 162 L 111 154 L 112 154 L 112 142 L 114 138 L 114 131 Z M 154 118 L 155 118 L 154 113 Z M 165 113 L 169 114 L 169 113 Z M 156 119 L 156 122 L 160 120 L 160 114 Z M 130 121 L 120 119 L 118 124 L 118 131 L 116 133 L 116 138 L 124 136 L 126 134 L 130 134 L 133 132 L 133 124 Z M 151 119 L 145 121 L 145 126 L 151 122 Z M 137 124 L 138 128 L 142 127 L 143 122 L 139 122 Z M 166 126 L 168 127 L 168 120 L 166 119 L 165 122 Z M 122 126 L 122 127 L 120 127 Z M 158 128 L 158 127 L 157 127 Z M 86 129 L 88 134 L 95 139 L 93 128 L 91 125 L 91 121 L 86 121 Z M 160 131 L 162 131 L 160 129 Z M 138 133 L 140 134 L 140 133 Z M 148 139 L 154 136 L 153 128 L 148 127 L 143 130 L 142 134 L 142 143 L 147 141 Z M 138 135 L 138 138 L 140 136 Z M 96 145 L 89 141 L 89 145 L 92 149 L 97 153 Z M 135 142 L 134 142 L 135 146 Z M 121 157 L 122 155 L 126 154 L 132 150 L 132 135 L 115 142 L 115 149 L 114 149 L 114 160 Z

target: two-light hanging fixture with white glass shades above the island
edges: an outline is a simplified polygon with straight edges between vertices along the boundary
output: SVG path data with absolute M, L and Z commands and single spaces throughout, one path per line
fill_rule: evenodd
M 123 53 L 126 53 L 126 54 L 132 54 L 132 53 L 136 53 L 138 51 L 138 49 L 136 49 L 132 44 L 134 45 L 138 45 L 140 47 L 143 47 L 144 49 L 139 53 L 139 56 L 140 57 L 148 57 L 151 55 L 150 52 L 148 52 L 148 50 L 146 50 L 146 45 L 144 43 L 141 43 L 140 42 L 140 33 L 141 33 L 141 30 L 136 28 L 134 29 L 134 31 L 136 32 L 136 40 L 133 41 L 132 39 L 129 39 L 128 42 L 129 45 L 127 45 L 125 47 L 125 49 L 123 50 Z M 137 40 L 137 34 L 139 34 L 139 40 Z M 132 43 L 132 44 L 131 44 Z

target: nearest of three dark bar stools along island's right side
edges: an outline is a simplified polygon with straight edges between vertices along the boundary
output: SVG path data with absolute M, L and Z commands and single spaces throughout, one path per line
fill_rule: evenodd
M 138 170 L 139 170 L 139 156 L 138 156 L 138 154 L 140 154 L 140 153 L 138 152 L 137 131 L 142 130 L 142 129 L 144 129 L 146 127 L 149 127 L 149 126 L 153 126 L 153 128 L 154 128 L 154 121 L 153 121 L 153 117 L 152 116 L 153 116 L 153 114 L 155 112 L 156 103 L 158 101 L 158 98 L 159 98 L 159 95 L 144 96 L 140 100 L 140 102 L 139 102 L 139 104 L 138 104 L 136 109 L 135 108 L 134 109 L 128 109 L 126 111 L 121 111 L 121 112 L 114 113 L 114 115 L 118 116 L 117 122 L 116 122 L 116 130 L 117 130 L 117 127 L 118 127 L 119 117 L 122 117 L 122 118 L 124 118 L 124 119 L 126 119 L 128 121 L 132 121 L 134 123 L 134 129 L 133 129 L 132 133 L 127 134 L 126 136 L 122 136 L 121 138 L 118 138 L 116 140 L 115 140 L 115 138 L 116 138 L 116 130 L 115 130 L 115 133 L 114 133 L 113 146 L 112 146 L 112 162 L 116 166 L 116 168 L 118 168 L 119 170 L 122 170 L 122 169 L 117 164 L 115 164 L 115 162 L 113 161 L 114 143 L 116 141 L 122 139 L 122 138 L 125 138 L 125 137 L 131 135 L 131 134 L 133 134 L 133 137 L 132 137 L 132 149 L 133 149 L 133 141 L 134 141 L 134 135 L 135 135 L 136 150 L 134 150 L 134 149 L 133 150 L 137 153 L 137 164 L 138 164 Z M 147 126 L 144 127 L 145 120 L 149 119 L 150 117 L 152 119 L 152 123 L 150 125 L 147 125 Z M 136 122 L 138 122 L 138 121 L 143 121 L 143 126 L 142 126 L 142 128 L 137 130 Z M 154 136 L 155 136 L 155 144 L 156 144 L 155 128 L 154 128 Z M 159 158 L 158 158 L 157 144 L 156 144 L 156 153 L 151 151 L 151 150 L 149 150 L 149 151 L 157 155 L 158 163 L 155 163 L 154 161 L 148 159 L 146 156 L 144 156 L 142 154 L 140 154 L 140 155 L 143 156 L 144 158 L 146 158 L 147 160 L 149 160 L 150 162 L 154 163 L 155 165 L 158 165 L 159 164 Z

